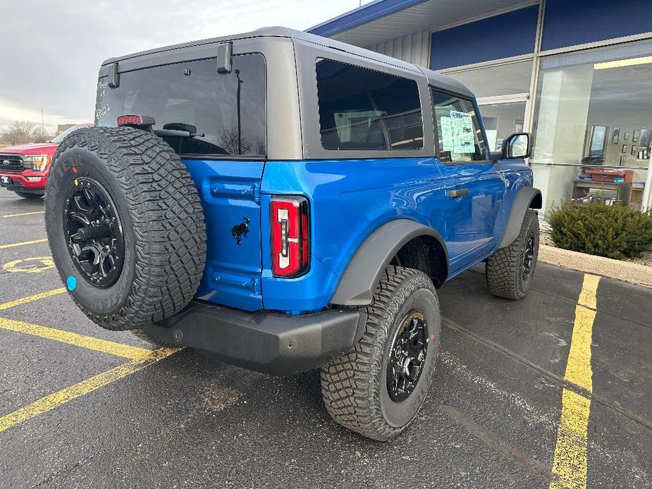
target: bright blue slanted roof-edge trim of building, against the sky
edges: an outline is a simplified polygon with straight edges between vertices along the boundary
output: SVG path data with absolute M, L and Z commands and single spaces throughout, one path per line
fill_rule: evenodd
M 307 32 L 324 37 L 352 29 L 358 25 L 366 24 L 372 20 L 389 16 L 393 13 L 405 10 L 415 5 L 423 4 L 428 0 L 376 0 L 362 7 L 356 8 L 341 16 L 326 20 L 319 25 L 310 27 Z

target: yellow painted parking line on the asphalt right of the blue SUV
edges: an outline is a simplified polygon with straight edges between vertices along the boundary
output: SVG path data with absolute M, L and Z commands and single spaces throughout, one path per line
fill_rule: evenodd
M 596 318 L 596 292 L 599 282 L 598 276 L 588 273 L 584 275 L 582 292 L 575 307 L 575 323 L 564 376 L 565 380 L 579 385 L 589 393 L 593 390 L 591 338 L 593 321 Z M 550 489 L 586 489 L 587 429 L 590 411 L 590 399 L 564 388 L 553 460 L 553 474 L 557 475 L 557 478 L 550 482 Z

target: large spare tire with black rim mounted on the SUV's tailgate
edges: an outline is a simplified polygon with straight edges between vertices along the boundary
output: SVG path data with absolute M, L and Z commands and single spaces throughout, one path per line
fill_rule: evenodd
M 161 321 L 197 292 L 206 261 L 202 204 L 179 156 L 152 132 L 85 128 L 66 137 L 47 180 L 45 223 L 61 279 L 102 328 Z M 99 223 L 96 239 L 88 231 Z

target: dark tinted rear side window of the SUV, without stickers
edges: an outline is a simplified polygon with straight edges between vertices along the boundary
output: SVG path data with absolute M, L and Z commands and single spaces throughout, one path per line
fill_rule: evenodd
M 316 63 L 324 149 L 422 149 L 417 82 L 339 61 Z

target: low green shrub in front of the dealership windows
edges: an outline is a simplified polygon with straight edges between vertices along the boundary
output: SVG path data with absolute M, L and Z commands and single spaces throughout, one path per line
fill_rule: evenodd
M 637 256 L 652 244 L 652 213 L 625 206 L 567 205 L 555 209 L 549 223 L 555 244 L 574 252 L 622 259 Z

